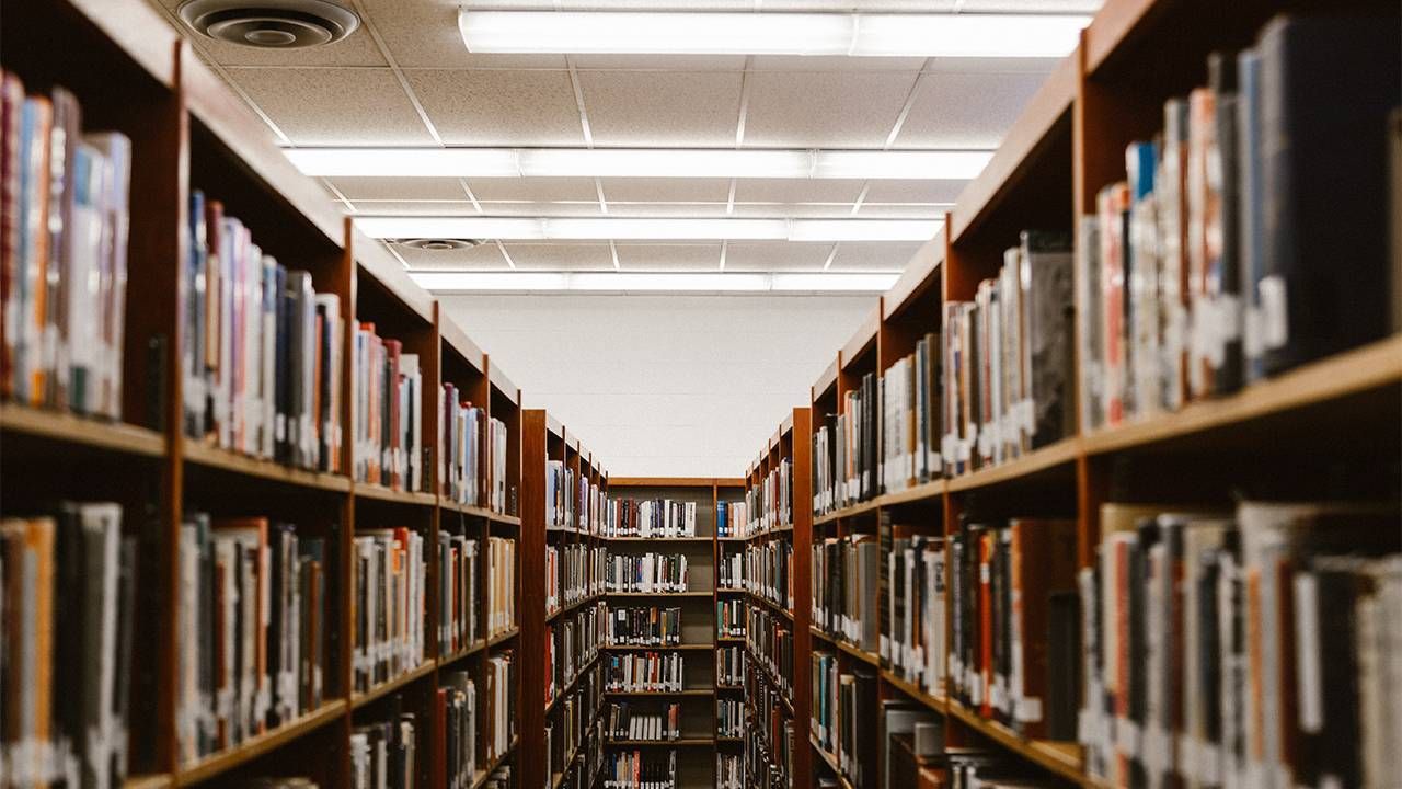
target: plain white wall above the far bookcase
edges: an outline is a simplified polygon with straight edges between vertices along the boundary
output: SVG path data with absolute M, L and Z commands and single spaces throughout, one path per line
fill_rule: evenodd
M 740 476 L 876 298 L 442 296 L 614 476 Z

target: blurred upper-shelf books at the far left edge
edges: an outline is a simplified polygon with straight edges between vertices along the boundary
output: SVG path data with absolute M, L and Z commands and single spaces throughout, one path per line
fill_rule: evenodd
M 0 394 L 122 417 L 132 142 L 0 72 Z

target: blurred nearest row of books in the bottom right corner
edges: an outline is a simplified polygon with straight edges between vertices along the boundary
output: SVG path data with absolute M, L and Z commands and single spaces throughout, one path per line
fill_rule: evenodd
M 1395 501 L 1103 505 L 1096 563 L 1073 578 L 1087 769 L 1117 783 L 1394 783 L 1398 519 Z

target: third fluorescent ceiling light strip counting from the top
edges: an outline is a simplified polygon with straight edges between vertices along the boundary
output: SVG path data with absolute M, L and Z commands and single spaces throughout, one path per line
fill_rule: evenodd
M 625 219 L 356 216 L 372 239 L 928 241 L 942 222 L 918 219 Z

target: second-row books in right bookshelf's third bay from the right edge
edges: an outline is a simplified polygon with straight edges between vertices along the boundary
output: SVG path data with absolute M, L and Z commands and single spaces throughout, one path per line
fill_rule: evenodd
M 901 679 L 944 696 L 948 618 L 945 615 L 944 538 L 882 526 L 886 548 L 886 618 L 882 664 Z

